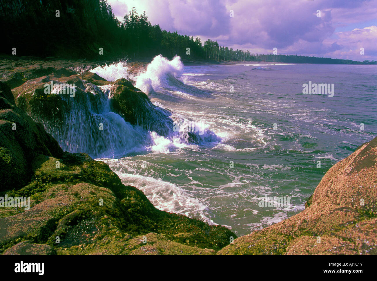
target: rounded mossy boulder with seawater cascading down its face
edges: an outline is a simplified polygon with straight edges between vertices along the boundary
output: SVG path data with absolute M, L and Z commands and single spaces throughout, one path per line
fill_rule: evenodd
M 173 131 L 171 113 L 153 105 L 146 94 L 126 79 L 114 83 L 92 72 L 69 77 L 50 74 L 28 80 L 14 88 L 12 94 L 15 104 L 35 122 L 43 124 L 63 150 L 70 152 L 86 152 L 92 157 L 109 152 L 123 156 L 125 150 L 144 136 L 136 129 L 139 133 L 135 134 L 139 135 L 133 141 L 115 142 L 113 132 L 121 126 L 131 128 L 121 121 L 122 117 L 132 125 L 165 137 Z

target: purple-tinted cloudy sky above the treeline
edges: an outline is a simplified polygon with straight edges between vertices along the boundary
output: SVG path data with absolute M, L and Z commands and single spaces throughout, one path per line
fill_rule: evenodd
M 152 25 L 252 53 L 377 60 L 377 0 L 108 0 Z M 231 17 L 233 10 L 233 17 Z M 319 12 L 320 11 L 320 12 Z M 320 16 L 319 16 L 320 15 Z M 364 55 L 360 54 L 364 48 Z

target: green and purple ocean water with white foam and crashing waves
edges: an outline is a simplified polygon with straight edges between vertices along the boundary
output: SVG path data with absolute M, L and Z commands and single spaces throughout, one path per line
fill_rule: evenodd
M 112 136 L 101 153 L 89 154 L 156 208 L 227 226 L 238 236 L 301 212 L 326 171 L 377 135 L 372 65 L 184 66 L 179 57 L 158 56 L 139 74 L 121 62 L 91 71 L 136 81 L 181 123 L 178 132 L 160 136 L 107 109 Z M 303 94 L 305 83 L 329 84 L 333 96 Z M 182 138 L 184 130 L 195 131 L 198 141 Z M 274 196 L 289 204 L 261 206 Z

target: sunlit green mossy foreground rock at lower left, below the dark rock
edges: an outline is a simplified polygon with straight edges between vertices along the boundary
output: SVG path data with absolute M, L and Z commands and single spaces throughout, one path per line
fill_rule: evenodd
M 0 251 L 28 240 L 60 254 L 129 254 L 137 248 L 128 247 L 131 238 L 153 232 L 163 234 L 155 245 L 158 253 L 212 253 L 203 249 L 219 250 L 234 235 L 222 226 L 157 210 L 143 192 L 124 186 L 103 162 L 74 156 L 65 153 L 57 160 L 40 155 L 32 163 L 32 182 L 6 191 L 8 196 L 31 196 L 31 206 L 5 208 L 12 210 L 3 217 L 0 213 Z M 177 236 L 181 232 L 186 235 Z

